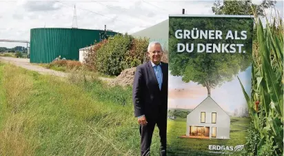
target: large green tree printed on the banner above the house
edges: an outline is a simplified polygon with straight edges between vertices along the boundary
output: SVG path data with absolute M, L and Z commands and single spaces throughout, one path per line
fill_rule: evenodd
M 236 18 L 204 18 L 199 17 L 170 17 L 169 23 L 169 69 L 173 76 L 181 76 L 184 82 L 196 82 L 207 88 L 208 96 L 211 90 L 220 86 L 225 81 L 232 81 L 240 71 L 250 66 L 252 59 L 252 26 L 251 19 Z M 183 19 L 187 18 L 187 19 Z M 222 39 L 176 39 L 175 30 L 221 30 Z M 247 39 L 233 40 L 225 39 L 228 30 L 240 33 L 247 30 Z M 240 34 L 239 34 L 240 36 Z M 177 43 L 194 43 L 193 52 L 176 52 Z M 196 52 L 197 43 L 242 43 L 245 45 L 245 53 L 222 53 L 222 52 Z

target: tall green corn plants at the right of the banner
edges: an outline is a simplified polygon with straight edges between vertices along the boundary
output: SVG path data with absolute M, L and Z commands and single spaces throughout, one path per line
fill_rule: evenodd
M 279 17 L 263 28 L 259 19 L 256 26 L 252 98 L 243 90 L 254 133 L 247 137 L 245 155 L 283 155 L 283 22 Z

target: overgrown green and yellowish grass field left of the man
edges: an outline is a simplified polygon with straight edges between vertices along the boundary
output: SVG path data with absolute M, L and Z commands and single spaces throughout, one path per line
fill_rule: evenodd
M 10 64 L 0 76 L 0 155 L 139 155 L 131 88 L 72 84 Z M 152 155 L 159 146 L 156 128 Z

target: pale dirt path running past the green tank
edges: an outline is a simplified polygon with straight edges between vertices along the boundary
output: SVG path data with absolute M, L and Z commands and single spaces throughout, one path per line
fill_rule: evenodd
M 26 68 L 28 70 L 32 70 L 35 72 L 39 72 L 40 74 L 43 75 L 55 75 L 58 77 L 67 77 L 68 72 L 59 72 L 56 70 L 51 70 L 44 68 L 42 66 L 37 66 L 34 64 L 30 64 L 30 59 L 22 59 L 22 58 L 14 58 L 14 57 L 0 57 L 0 61 L 14 64 L 15 66 L 19 66 L 21 68 Z M 112 81 L 111 78 L 106 78 L 106 77 L 99 77 L 99 79 L 104 80 L 104 81 Z

